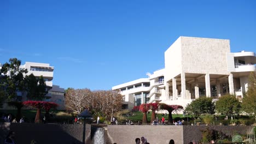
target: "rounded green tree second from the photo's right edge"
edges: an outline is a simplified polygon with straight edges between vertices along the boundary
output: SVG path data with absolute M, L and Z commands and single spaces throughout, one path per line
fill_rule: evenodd
M 235 95 L 223 95 L 216 102 L 216 111 L 231 117 L 238 114 L 241 110 L 241 103 Z

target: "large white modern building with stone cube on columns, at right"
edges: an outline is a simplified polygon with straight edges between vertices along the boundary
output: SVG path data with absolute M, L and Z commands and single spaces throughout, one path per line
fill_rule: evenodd
M 231 53 L 227 39 L 179 37 L 165 51 L 164 69 L 112 89 L 124 96 L 126 109 L 158 102 L 185 107 L 201 96 L 227 93 L 241 99 L 255 64 L 254 52 Z

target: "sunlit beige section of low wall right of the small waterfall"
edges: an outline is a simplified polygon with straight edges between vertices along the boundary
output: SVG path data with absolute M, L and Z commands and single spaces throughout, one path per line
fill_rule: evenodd
M 171 139 L 183 143 L 183 127 L 177 125 L 108 125 L 107 129 L 113 143 L 135 143 L 142 136 L 152 144 L 168 143 Z

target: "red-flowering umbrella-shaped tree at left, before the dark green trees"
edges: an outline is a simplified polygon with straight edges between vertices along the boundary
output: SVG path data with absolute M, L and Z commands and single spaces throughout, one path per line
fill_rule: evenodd
M 47 102 L 47 101 L 32 101 L 32 100 L 23 102 L 24 105 L 37 109 L 37 115 L 36 115 L 36 118 L 34 119 L 35 123 L 40 123 L 40 114 L 42 109 L 45 109 L 45 110 L 47 109 L 49 111 L 52 106 L 55 106 L 55 105 L 57 106 L 57 104 L 55 103 L 50 103 L 50 104 L 49 103 L 50 102 Z

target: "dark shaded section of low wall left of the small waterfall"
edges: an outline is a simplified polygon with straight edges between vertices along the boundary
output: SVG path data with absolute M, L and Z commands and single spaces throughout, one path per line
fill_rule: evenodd
M 86 143 L 91 143 L 91 125 L 86 124 Z M 83 124 L 34 124 L 11 123 L 10 130 L 15 131 L 16 143 L 82 143 Z M 1 141 L 2 142 L 2 141 Z

